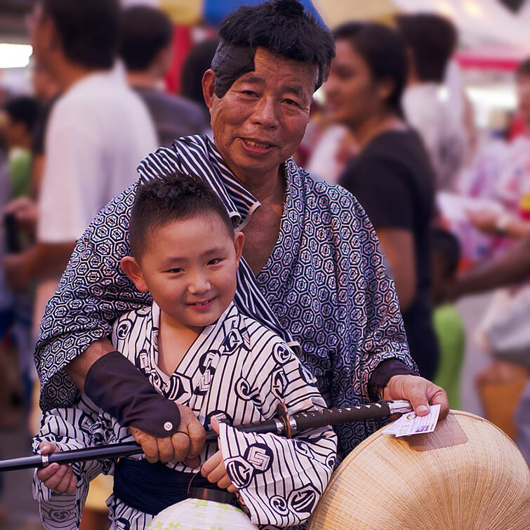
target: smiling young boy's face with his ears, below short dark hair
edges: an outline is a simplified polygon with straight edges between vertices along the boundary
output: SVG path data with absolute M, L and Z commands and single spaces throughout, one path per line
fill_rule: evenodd
M 149 291 L 171 326 L 199 333 L 226 310 L 236 291 L 244 236 L 228 233 L 216 213 L 171 221 L 146 241 L 138 277 L 122 267 L 140 291 Z M 133 258 L 128 258 L 132 260 Z

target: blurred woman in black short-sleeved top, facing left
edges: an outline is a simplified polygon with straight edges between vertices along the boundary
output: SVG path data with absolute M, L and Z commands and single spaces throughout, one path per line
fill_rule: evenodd
M 359 146 L 339 184 L 357 197 L 376 229 L 395 279 L 411 355 L 420 374 L 432 378 L 438 364 L 429 272 L 435 176 L 402 114 L 404 41 L 393 29 L 361 22 L 338 27 L 335 39 L 327 112 L 350 128 Z

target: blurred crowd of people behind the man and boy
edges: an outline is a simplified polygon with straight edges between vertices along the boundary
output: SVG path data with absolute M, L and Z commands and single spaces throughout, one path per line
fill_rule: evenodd
M 37 5 L 32 89 L 0 88 L 0 430 L 21 422 L 37 430 L 34 343 L 84 228 L 157 146 L 211 135 L 201 77 L 215 32 L 190 49 L 176 95 L 166 82 L 167 15 L 116 8 L 105 20 L 93 13 L 79 34 L 75 5 Z M 530 461 L 530 60 L 514 76 L 517 115 L 479 142 L 449 20 L 352 21 L 334 36 L 336 58 L 294 157 L 368 213 L 420 373 L 446 389 L 453 409 L 462 407 L 461 385 L 476 385 L 486 416 Z M 465 329 L 456 300 L 493 289 L 479 329 Z M 461 382 L 470 340 L 491 364 Z M 86 529 L 105 524 L 93 497 Z

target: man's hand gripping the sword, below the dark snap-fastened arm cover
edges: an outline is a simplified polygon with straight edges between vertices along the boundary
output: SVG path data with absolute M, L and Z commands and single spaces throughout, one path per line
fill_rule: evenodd
M 129 432 L 137 444 L 142 446 L 147 462 L 184 462 L 190 468 L 199 465 L 199 454 L 206 442 L 206 432 L 192 409 L 176 404 L 180 412 L 178 432 L 166 438 L 148 435 L 131 425 Z

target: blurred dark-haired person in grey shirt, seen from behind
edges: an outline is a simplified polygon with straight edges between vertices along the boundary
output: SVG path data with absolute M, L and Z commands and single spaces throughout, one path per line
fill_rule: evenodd
M 166 93 L 163 78 L 171 64 L 171 20 L 150 6 L 133 6 L 121 21 L 120 55 L 128 84 L 143 99 L 159 144 L 170 147 L 180 136 L 206 133 L 208 119 L 194 102 Z

